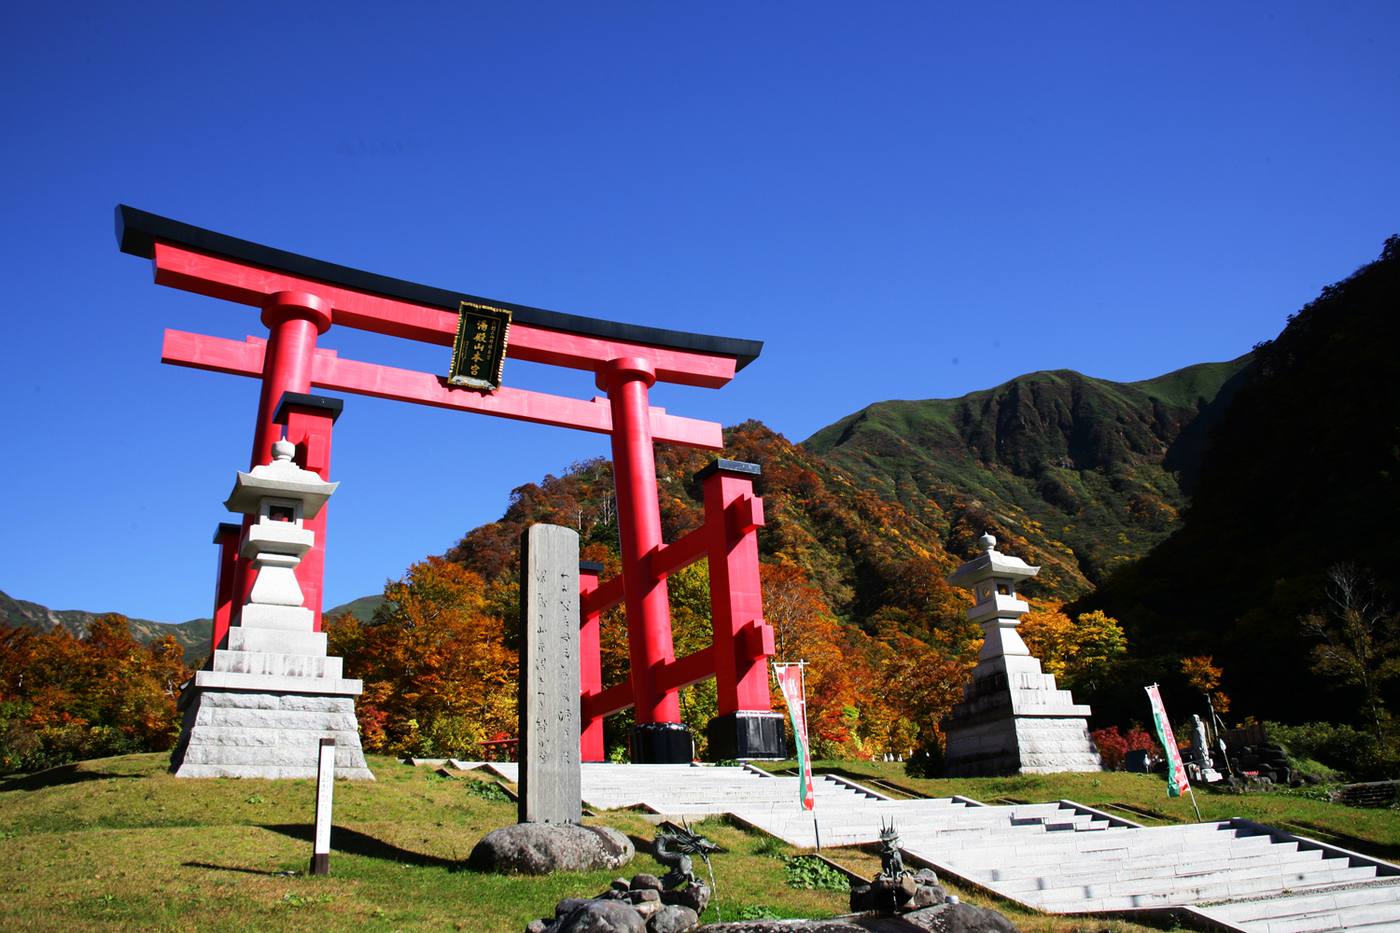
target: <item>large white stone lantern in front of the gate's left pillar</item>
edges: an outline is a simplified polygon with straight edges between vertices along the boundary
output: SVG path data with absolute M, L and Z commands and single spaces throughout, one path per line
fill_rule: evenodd
M 354 698 L 314 630 L 295 569 L 315 544 L 304 525 L 339 483 L 293 462 L 295 447 L 273 444 L 273 461 L 239 472 L 224 506 L 253 517 L 241 553 L 258 573 L 227 647 L 181 696 L 185 724 L 171 755 L 176 778 L 315 778 L 322 738 L 336 742 L 336 776 L 374 780 L 360 748 Z

